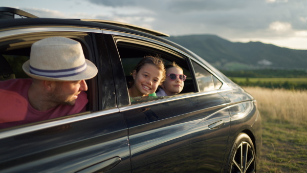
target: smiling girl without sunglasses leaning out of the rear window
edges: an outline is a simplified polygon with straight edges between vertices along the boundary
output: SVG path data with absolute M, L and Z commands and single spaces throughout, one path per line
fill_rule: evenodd
M 154 56 L 145 56 L 134 68 L 132 73 L 134 81 L 130 82 L 128 89 L 131 97 L 156 96 L 156 90 L 165 79 L 165 68 L 162 59 Z

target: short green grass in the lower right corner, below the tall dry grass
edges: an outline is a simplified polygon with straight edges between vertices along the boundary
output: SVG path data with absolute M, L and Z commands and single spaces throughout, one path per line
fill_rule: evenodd
M 307 172 L 307 127 L 262 121 L 258 172 Z

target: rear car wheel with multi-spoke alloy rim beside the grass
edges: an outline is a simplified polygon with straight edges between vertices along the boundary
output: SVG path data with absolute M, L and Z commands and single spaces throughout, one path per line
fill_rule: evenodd
M 234 144 L 226 166 L 227 172 L 256 172 L 255 148 L 251 138 L 240 133 Z

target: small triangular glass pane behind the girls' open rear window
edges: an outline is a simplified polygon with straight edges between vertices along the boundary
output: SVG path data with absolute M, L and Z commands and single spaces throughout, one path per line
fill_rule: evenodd
M 218 90 L 222 86 L 222 82 L 208 72 L 198 63 L 192 61 L 196 81 L 198 82 L 200 92 Z

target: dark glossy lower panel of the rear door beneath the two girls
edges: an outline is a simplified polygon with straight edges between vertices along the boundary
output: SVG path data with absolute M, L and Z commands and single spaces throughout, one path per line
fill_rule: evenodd
M 226 148 L 223 141 L 228 140 L 230 128 L 230 115 L 221 95 L 169 99 L 121 113 L 129 128 L 133 171 L 200 171 L 200 166 L 220 170 Z M 224 122 L 221 127 L 208 127 L 219 121 Z

